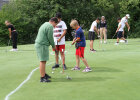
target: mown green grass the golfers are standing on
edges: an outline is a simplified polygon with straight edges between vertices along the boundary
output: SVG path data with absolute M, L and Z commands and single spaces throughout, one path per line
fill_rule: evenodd
M 89 41 L 85 58 L 93 72 L 71 71 L 75 66 L 75 48 L 68 50 L 66 43 L 66 65 L 72 80 L 60 74 L 62 68 L 54 71 L 47 66 L 52 83 L 40 83 L 39 70 L 9 100 L 140 100 L 140 39 L 131 39 L 128 44 L 115 46 L 116 40 L 108 40 L 99 48 L 95 41 L 96 53 L 89 52 Z M 29 73 L 39 66 L 34 45 L 21 45 L 18 52 L 5 52 L 0 47 L 0 100 L 22 83 Z M 8 47 L 10 49 L 10 47 Z M 104 50 L 103 50 L 104 49 Z M 50 47 L 50 53 L 51 53 Z M 50 55 L 49 63 L 54 62 Z

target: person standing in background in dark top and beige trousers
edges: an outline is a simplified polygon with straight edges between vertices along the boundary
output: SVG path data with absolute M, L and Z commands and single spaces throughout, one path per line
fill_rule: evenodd
M 101 38 L 101 43 L 104 37 L 104 43 L 107 43 L 107 22 L 105 20 L 105 16 L 101 17 L 101 21 L 99 24 L 99 31 L 100 31 L 100 38 Z

